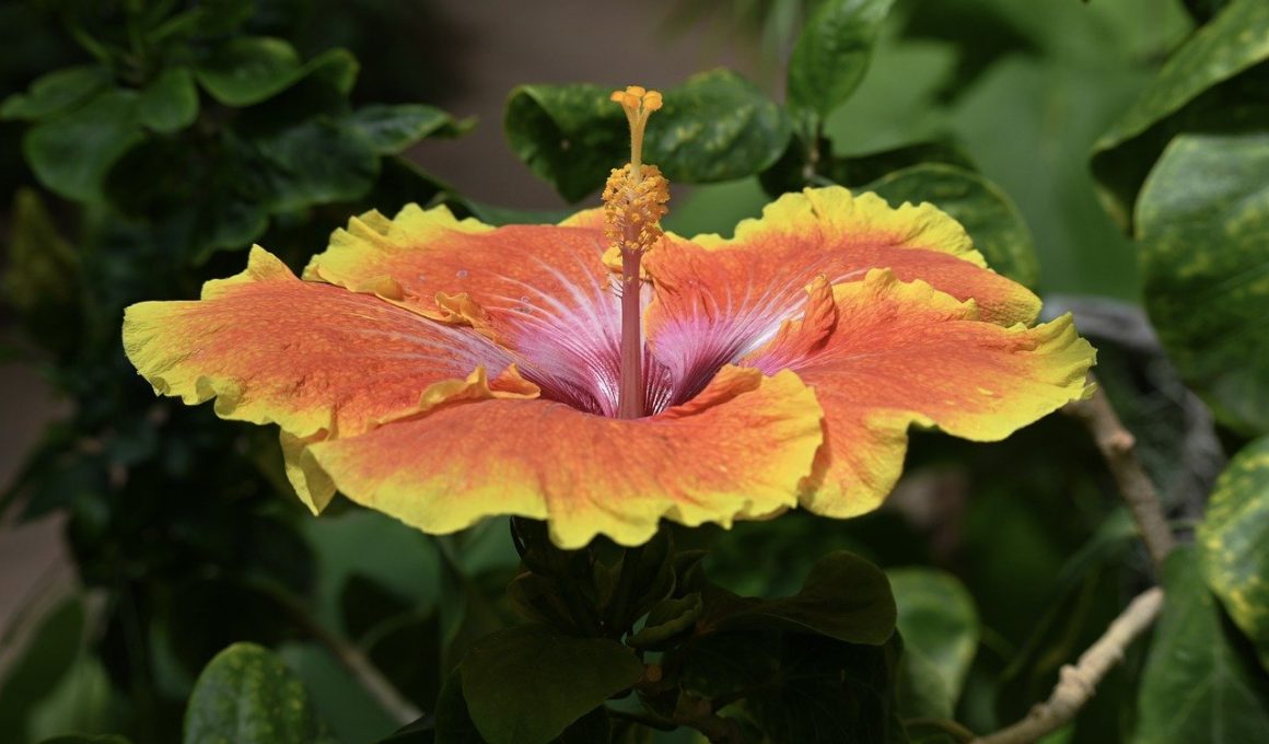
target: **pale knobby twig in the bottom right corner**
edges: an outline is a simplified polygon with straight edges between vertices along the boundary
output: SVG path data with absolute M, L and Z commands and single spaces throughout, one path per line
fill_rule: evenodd
M 1162 606 L 1164 590 L 1159 587 L 1138 594 L 1074 667 L 1062 667 L 1057 687 L 1047 701 L 1033 707 L 1025 719 L 975 739 L 973 744 L 1027 744 L 1074 720 L 1107 672 L 1123 659 L 1124 649 L 1155 622 Z

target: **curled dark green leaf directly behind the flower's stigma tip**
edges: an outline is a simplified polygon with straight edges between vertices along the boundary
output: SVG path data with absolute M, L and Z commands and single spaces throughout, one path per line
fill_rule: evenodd
M 576 202 L 629 159 L 622 108 L 600 85 L 524 85 L 506 103 L 515 155 L 565 199 Z M 760 173 L 789 138 L 784 109 L 727 70 L 694 75 L 665 91 L 647 126 L 643 159 L 673 180 L 712 183 Z

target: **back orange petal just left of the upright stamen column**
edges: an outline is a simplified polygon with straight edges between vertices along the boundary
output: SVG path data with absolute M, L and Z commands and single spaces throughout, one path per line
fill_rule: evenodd
M 560 225 L 495 229 L 411 204 L 392 220 L 354 217 L 305 278 L 472 325 L 516 352 L 525 376 L 553 397 L 608 413 L 621 338 L 608 242 L 599 209 Z

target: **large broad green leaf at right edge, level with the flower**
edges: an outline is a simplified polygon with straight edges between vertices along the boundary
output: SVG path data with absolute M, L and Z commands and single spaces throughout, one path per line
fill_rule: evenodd
M 1269 432 L 1269 132 L 1176 137 L 1137 204 L 1146 310 L 1225 424 Z

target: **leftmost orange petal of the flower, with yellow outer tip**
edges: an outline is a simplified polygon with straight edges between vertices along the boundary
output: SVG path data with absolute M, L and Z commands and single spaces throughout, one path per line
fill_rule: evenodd
M 468 329 L 301 282 L 260 248 L 244 273 L 208 282 L 199 301 L 129 307 L 123 344 L 156 392 L 187 404 L 216 397 L 222 418 L 277 423 L 298 439 L 364 433 L 437 396 L 489 389 L 483 371 L 462 378 L 510 363 Z

